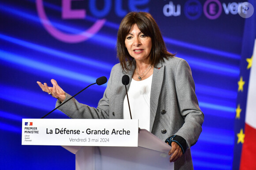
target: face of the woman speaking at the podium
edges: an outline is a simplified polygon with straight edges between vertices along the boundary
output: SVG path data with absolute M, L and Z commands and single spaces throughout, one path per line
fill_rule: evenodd
M 136 61 L 149 61 L 152 40 L 145 36 L 138 28 L 137 24 L 132 25 L 130 32 L 125 37 L 125 47 L 129 54 Z

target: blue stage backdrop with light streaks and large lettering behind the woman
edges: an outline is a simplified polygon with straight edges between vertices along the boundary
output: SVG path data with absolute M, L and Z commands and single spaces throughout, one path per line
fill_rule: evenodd
M 203 132 L 191 148 L 195 169 L 231 169 L 245 22 L 238 2 L 1 0 L 0 169 L 75 168 L 75 155 L 60 146 L 21 145 L 22 119 L 40 118 L 55 107 L 36 81 L 55 79 L 74 95 L 100 76 L 109 78 L 118 63 L 118 26 L 129 11 L 150 12 L 168 50 L 191 66 L 205 114 Z M 105 87 L 94 85 L 76 99 L 96 107 Z M 47 118 L 68 117 L 55 111 Z

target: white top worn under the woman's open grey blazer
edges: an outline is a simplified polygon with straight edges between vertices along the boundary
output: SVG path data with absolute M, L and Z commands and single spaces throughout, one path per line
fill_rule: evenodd
M 128 98 L 132 119 L 139 119 L 139 128 L 150 131 L 150 94 L 153 74 L 141 81 L 131 81 Z M 131 119 L 127 96 L 124 98 L 124 119 Z

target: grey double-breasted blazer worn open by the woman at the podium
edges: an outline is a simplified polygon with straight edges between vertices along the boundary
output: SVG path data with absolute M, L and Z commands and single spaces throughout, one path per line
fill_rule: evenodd
M 121 80 L 126 74 L 131 82 L 135 64 L 134 60 L 128 72 L 122 70 L 120 63 L 113 66 L 107 88 L 97 108 L 81 104 L 73 98 L 61 106 L 60 111 L 75 119 L 123 119 L 126 93 Z M 65 100 L 70 97 L 66 94 Z M 60 101 L 57 101 L 57 105 L 60 105 Z M 187 141 L 188 149 L 174 163 L 174 169 L 193 169 L 190 147 L 199 138 L 204 115 L 196 98 L 191 69 L 184 59 L 169 58 L 155 66 L 151 85 L 150 119 L 151 133 L 163 141 L 174 134 Z

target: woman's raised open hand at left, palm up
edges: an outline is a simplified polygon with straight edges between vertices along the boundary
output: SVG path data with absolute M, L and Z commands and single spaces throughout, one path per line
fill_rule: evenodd
M 41 82 L 37 81 L 39 87 L 41 87 L 41 89 L 44 92 L 51 94 L 53 96 L 53 98 L 56 98 L 59 101 L 63 102 L 66 98 L 66 94 L 65 94 L 64 90 L 62 90 L 62 88 L 60 88 L 60 86 L 58 85 L 56 80 L 52 79 L 51 82 L 53 84 L 53 87 L 48 87 L 46 83 L 42 84 Z

